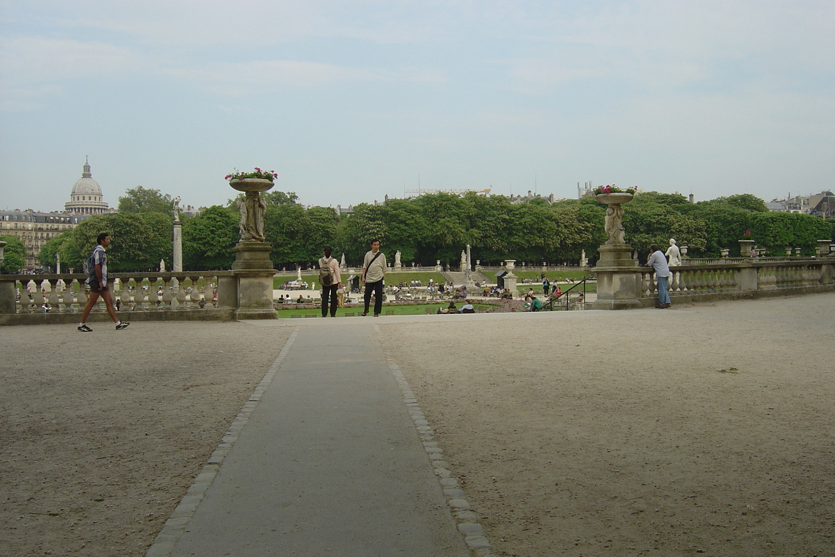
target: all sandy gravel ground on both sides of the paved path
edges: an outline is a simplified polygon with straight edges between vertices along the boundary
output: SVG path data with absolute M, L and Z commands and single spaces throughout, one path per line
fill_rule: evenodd
M 428 317 L 375 322 L 496 554 L 835 554 L 835 294 Z M 292 331 L 95 329 L 0 328 L 0 555 L 141 557 Z

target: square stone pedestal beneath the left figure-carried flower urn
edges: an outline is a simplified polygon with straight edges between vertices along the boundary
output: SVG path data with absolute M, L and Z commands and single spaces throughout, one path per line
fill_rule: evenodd
M 240 241 L 235 246 L 232 271 L 237 278 L 235 319 L 276 319 L 272 304 L 272 277 L 276 270 L 270 260 L 270 244 Z

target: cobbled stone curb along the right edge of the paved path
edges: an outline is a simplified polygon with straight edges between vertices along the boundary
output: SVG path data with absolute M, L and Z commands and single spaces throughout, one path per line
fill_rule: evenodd
M 374 325 L 374 330 L 378 336 L 381 334 L 379 326 Z M 453 477 L 449 464 L 443 461 L 443 449 L 438 447 L 438 441 L 435 440 L 432 426 L 429 425 L 426 416 L 423 415 L 423 410 L 417 403 L 417 397 L 412 392 L 412 387 L 409 387 L 409 383 L 400 371 L 400 367 L 397 366 L 397 362 L 389 357 L 386 357 L 386 362 L 395 381 L 397 381 L 397 387 L 400 387 L 403 403 L 406 404 L 415 429 L 417 429 L 417 435 L 423 443 L 423 449 L 426 451 L 434 473 L 438 477 L 438 482 L 443 489 L 443 496 L 447 499 L 447 504 L 453 512 L 458 532 L 463 535 L 471 554 L 476 557 L 496 557 L 492 552 L 490 542 L 484 536 L 484 529 L 481 524 L 478 524 L 478 515 L 470 510 L 470 504 L 463 489 L 458 484 L 458 479 Z

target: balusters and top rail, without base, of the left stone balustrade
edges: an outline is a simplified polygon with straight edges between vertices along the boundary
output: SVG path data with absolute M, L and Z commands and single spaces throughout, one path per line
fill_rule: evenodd
M 231 273 L 112 273 L 109 286 L 119 311 L 200 311 L 217 307 L 219 276 Z M 14 281 L 15 313 L 80 313 L 89 299 L 85 278 L 69 274 L 0 276 L 0 280 Z M 93 311 L 105 311 L 101 298 Z

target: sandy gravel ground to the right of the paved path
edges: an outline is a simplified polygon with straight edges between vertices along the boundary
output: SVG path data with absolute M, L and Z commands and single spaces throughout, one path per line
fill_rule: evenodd
M 382 327 L 499 555 L 835 554 L 835 294 Z

